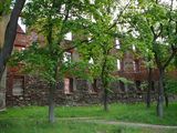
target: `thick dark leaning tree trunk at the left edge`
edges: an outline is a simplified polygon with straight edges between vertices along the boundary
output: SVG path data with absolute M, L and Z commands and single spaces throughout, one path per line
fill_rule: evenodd
M 6 69 L 6 63 L 13 49 L 13 42 L 17 34 L 18 19 L 24 6 L 24 2 L 25 0 L 15 0 L 14 8 L 11 12 L 10 20 L 7 25 L 3 48 L 0 50 L 0 80 Z

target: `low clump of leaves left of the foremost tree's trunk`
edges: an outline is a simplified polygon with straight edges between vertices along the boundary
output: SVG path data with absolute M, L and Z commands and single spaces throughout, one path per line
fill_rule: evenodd
M 49 49 L 40 48 L 39 43 L 33 43 L 27 50 L 14 52 L 11 58 L 11 63 L 23 63 L 21 71 L 41 76 L 43 80 L 54 82 L 55 65 L 54 57 L 49 55 Z M 11 64 L 10 63 L 10 64 Z

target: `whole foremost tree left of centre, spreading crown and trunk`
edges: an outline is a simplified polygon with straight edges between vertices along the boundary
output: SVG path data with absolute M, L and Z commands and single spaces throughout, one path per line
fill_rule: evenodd
M 75 71 L 70 73 L 75 74 L 74 76 L 82 76 L 83 73 L 92 73 L 92 66 L 86 68 L 88 63 L 87 60 L 65 62 L 63 61 L 63 53 L 73 49 L 82 51 L 81 45 L 90 47 L 92 43 L 91 40 L 96 40 L 95 42 L 98 43 L 100 39 L 103 39 L 98 30 L 102 30 L 101 28 L 104 28 L 104 25 L 107 28 L 108 24 L 106 23 L 107 21 L 105 21 L 105 23 L 97 23 L 97 21 L 104 19 L 103 14 L 105 11 L 103 7 L 110 3 L 108 1 L 110 0 L 104 2 L 95 1 L 95 3 L 92 3 L 92 1 L 88 0 L 33 0 L 30 1 L 24 9 L 25 24 L 29 29 L 33 28 L 38 33 L 45 37 L 46 41 L 44 47 L 41 47 L 41 42 L 34 42 L 29 50 L 22 52 L 22 57 L 14 59 L 18 61 L 22 60 L 25 69 L 31 73 L 40 75 L 50 84 L 50 122 L 54 122 L 54 92 L 56 90 L 56 81 L 62 79 L 65 72 L 70 73 L 70 69 L 75 69 Z M 94 22 L 92 17 L 94 17 L 96 22 Z M 97 20 L 97 18 L 100 20 Z M 64 35 L 69 32 L 72 32 L 74 39 L 72 42 L 66 43 Z M 105 34 L 105 31 L 102 33 Z M 90 37 L 91 40 L 88 39 Z M 83 71 L 82 74 L 80 74 L 81 72 L 79 71 Z

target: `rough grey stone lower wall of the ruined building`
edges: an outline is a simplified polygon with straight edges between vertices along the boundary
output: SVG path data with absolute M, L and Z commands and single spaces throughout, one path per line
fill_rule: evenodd
M 9 76 L 10 81 L 10 76 Z M 49 95 L 49 85 L 33 76 L 25 76 L 24 90 L 22 95 L 13 95 L 12 90 L 8 89 L 7 92 L 7 105 L 46 105 Z M 9 83 L 10 84 L 10 83 Z M 87 82 L 84 80 L 76 80 L 76 89 L 73 92 L 65 94 L 63 82 L 58 82 L 58 89 L 55 92 L 55 103 L 58 105 L 86 105 L 86 104 L 100 104 L 103 100 L 101 82 L 97 83 L 97 92 L 90 92 Z M 129 88 L 131 89 L 131 88 Z M 108 102 L 140 102 L 145 101 L 146 93 L 138 92 L 136 90 L 128 90 L 123 92 L 119 90 L 117 82 L 112 84 L 113 92 L 108 95 Z M 153 92 L 153 96 L 154 92 Z

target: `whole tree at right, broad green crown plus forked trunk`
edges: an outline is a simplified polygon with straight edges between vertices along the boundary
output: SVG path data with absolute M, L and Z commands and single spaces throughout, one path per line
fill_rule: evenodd
M 164 74 L 166 68 L 174 59 L 177 52 L 176 44 L 176 10 L 173 9 L 174 1 L 165 4 L 160 1 L 139 0 L 133 3 L 126 13 L 126 22 L 128 23 L 128 35 L 132 42 L 146 53 L 152 54 L 158 72 L 159 88 L 157 98 L 157 114 L 163 116 L 164 103 Z M 133 41 L 134 40 L 134 41 Z

